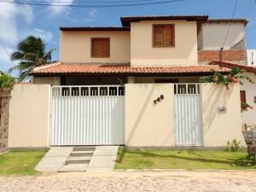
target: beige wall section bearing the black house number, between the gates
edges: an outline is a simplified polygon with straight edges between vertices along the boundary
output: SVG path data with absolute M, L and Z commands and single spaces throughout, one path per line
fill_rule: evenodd
M 163 95 L 164 100 L 154 104 Z M 173 84 L 125 84 L 125 145 L 173 146 Z

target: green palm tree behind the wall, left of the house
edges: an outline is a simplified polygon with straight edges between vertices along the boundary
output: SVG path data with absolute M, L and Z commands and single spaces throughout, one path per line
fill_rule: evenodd
M 33 67 L 47 64 L 51 60 L 51 54 L 55 49 L 45 50 L 46 44 L 41 38 L 28 36 L 20 41 L 17 50 L 10 55 L 11 61 L 20 61 L 15 67 L 9 68 L 9 73 L 19 72 L 18 81 L 29 77 Z

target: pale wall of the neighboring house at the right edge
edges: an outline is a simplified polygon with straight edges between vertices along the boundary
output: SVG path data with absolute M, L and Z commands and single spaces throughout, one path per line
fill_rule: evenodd
M 253 80 L 253 83 L 248 81 L 243 81 L 241 85 L 241 90 L 246 91 L 247 104 L 253 107 L 253 109 L 248 109 L 248 111 L 243 111 L 241 113 L 241 121 L 243 124 L 256 125 L 256 103 L 254 102 L 254 96 L 256 96 L 256 74 L 254 73 L 244 73 L 248 78 Z

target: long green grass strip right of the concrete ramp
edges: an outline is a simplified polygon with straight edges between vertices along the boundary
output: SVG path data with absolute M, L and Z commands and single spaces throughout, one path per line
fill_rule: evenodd
M 252 166 L 247 166 L 250 163 Z M 246 152 L 122 150 L 115 169 L 245 170 L 256 169 Z

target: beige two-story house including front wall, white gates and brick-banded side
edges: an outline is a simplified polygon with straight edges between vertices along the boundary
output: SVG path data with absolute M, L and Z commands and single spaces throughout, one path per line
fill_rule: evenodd
M 244 144 L 239 84 L 226 90 L 200 78 L 230 72 L 208 65 L 219 58 L 229 25 L 236 31 L 223 61 L 246 62 L 247 20 L 166 15 L 121 23 L 60 27 L 59 61 L 35 67 L 32 84 L 12 91 L 9 148 L 223 148 L 234 138 Z

